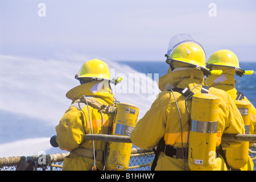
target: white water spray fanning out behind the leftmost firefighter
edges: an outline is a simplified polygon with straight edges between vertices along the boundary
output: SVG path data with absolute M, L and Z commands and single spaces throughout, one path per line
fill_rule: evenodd
M 35 118 L 47 126 L 55 127 L 71 104 L 65 94 L 79 85 L 75 75 L 89 59 L 77 55 L 59 56 L 51 60 L 0 55 L 0 60 L 0 110 L 27 115 L 31 118 L 30 122 L 34 122 L 32 118 Z M 112 68 L 114 77 L 123 77 L 121 84 L 116 85 L 113 90 L 114 97 L 118 101 L 138 106 L 139 118 L 143 117 L 158 94 L 157 80 L 152 80 L 152 75 L 139 73 L 125 64 L 104 61 Z M 158 76 L 155 75 L 155 78 Z M 12 135 L 1 136 L 5 137 Z M 49 149 L 48 138 L 13 138 L 13 141 L 15 142 L 0 141 L 0 155 L 37 155 L 37 152 Z M 19 154 L 12 153 L 14 148 Z

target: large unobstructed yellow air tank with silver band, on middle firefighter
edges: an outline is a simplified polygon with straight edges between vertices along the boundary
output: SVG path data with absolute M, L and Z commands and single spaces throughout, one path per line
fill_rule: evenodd
M 207 93 L 192 97 L 188 142 L 188 167 L 192 171 L 210 171 L 216 165 L 218 100 Z

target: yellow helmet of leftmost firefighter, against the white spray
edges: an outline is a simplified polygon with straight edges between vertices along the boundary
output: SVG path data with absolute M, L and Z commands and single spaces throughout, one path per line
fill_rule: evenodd
M 109 65 L 104 61 L 92 59 L 86 61 L 75 76 L 77 80 L 81 78 L 90 78 L 92 81 L 96 80 L 110 80 L 111 72 Z

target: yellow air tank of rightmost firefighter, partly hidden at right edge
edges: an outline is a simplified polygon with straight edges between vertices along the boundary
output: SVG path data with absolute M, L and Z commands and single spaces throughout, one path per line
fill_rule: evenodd
M 234 101 L 240 111 L 245 125 L 245 134 L 250 134 L 250 102 Z M 243 142 L 241 146 L 226 149 L 226 160 L 232 169 L 240 169 L 248 162 L 249 142 Z

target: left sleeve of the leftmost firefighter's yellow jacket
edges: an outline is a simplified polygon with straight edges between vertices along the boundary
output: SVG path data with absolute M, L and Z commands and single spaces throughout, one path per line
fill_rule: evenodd
M 84 140 L 84 114 L 76 107 L 69 107 L 56 126 L 57 143 L 62 150 L 72 151 Z

